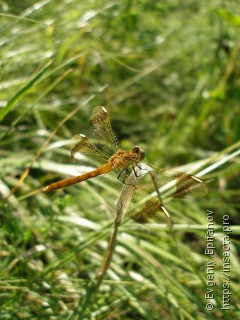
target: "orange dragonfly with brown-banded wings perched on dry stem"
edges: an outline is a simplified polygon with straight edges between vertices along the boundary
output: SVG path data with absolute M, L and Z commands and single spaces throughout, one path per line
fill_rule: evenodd
M 87 163 L 92 169 L 81 175 L 54 182 L 44 187 L 43 192 L 118 172 L 117 179 L 123 183 L 123 188 L 117 203 L 117 212 L 123 214 L 136 193 L 135 199 L 139 205 L 130 218 L 141 224 L 150 222 L 171 224 L 171 216 L 164 205 L 161 190 L 165 189 L 168 198 L 202 197 L 207 194 L 206 184 L 194 175 L 171 169 L 153 169 L 143 163 L 145 151 L 142 148 L 134 146 L 130 151 L 119 149 L 105 107 L 94 108 L 90 117 L 89 131 L 90 138 L 84 134 L 73 136 L 71 157 L 75 163 Z M 102 165 L 97 166 L 98 163 Z M 145 188 L 142 187 L 144 185 Z

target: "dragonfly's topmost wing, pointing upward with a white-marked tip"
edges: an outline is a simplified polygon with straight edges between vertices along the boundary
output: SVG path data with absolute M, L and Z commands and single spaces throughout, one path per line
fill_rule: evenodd
M 94 108 L 89 130 L 91 142 L 100 153 L 110 157 L 118 150 L 118 140 L 112 131 L 109 114 L 104 107 Z

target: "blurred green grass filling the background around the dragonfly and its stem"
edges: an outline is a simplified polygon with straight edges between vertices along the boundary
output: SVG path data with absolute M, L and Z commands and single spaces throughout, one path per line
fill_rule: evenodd
M 239 1 L 12 0 L 0 8 L 1 319 L 238 319 Z M 169 203 L 174 239 L 166 228 L 124 221 L 81 318 L 114 208 L 107 212 L 91 183 L 40 188 L 71 175 L 70 139 L 87 133 L 97 105 L 109 110 L 122 148 L 140 145 L 158 167 L 205 170 L 209 193 Z M 210 301 L 207 210 L 216 246 Z M 230 310 L 221 309 L 223 215 L 232 225 Z

